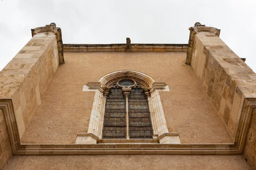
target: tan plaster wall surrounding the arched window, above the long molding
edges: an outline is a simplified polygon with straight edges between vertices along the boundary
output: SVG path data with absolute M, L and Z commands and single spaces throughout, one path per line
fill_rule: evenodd
M 169 132 L 181 143 L 233 143 L 193 69 L 186 53 L 64 53 L 65 64 L 56 71 L 41 105 L 22 138 L 23 143 L 75 143 L 87 132 L 94 92 L 82 91 L 113 71 L 134 70 L 166 82 L 160 92 Z

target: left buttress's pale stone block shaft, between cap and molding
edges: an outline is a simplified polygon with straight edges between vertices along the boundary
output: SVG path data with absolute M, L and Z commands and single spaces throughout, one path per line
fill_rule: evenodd
M 0 98 L 12 98 L 20 138 L 57 70 L 54 33 L 36 34 L 0 72 Z

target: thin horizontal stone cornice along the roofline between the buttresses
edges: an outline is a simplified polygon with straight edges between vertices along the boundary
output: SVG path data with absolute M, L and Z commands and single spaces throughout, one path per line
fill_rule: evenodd
M 186 52 L 187 44 L 64 44 L 64 52 Z

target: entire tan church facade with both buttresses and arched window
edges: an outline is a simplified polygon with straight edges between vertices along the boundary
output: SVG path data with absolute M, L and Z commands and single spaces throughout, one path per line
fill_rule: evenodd
M 188 44 L 63 44 L 0 72 L 0 169 L 255 169 L 256 74 L 195 23 Z M 47 163 L 45 163 L 47 162 Z

